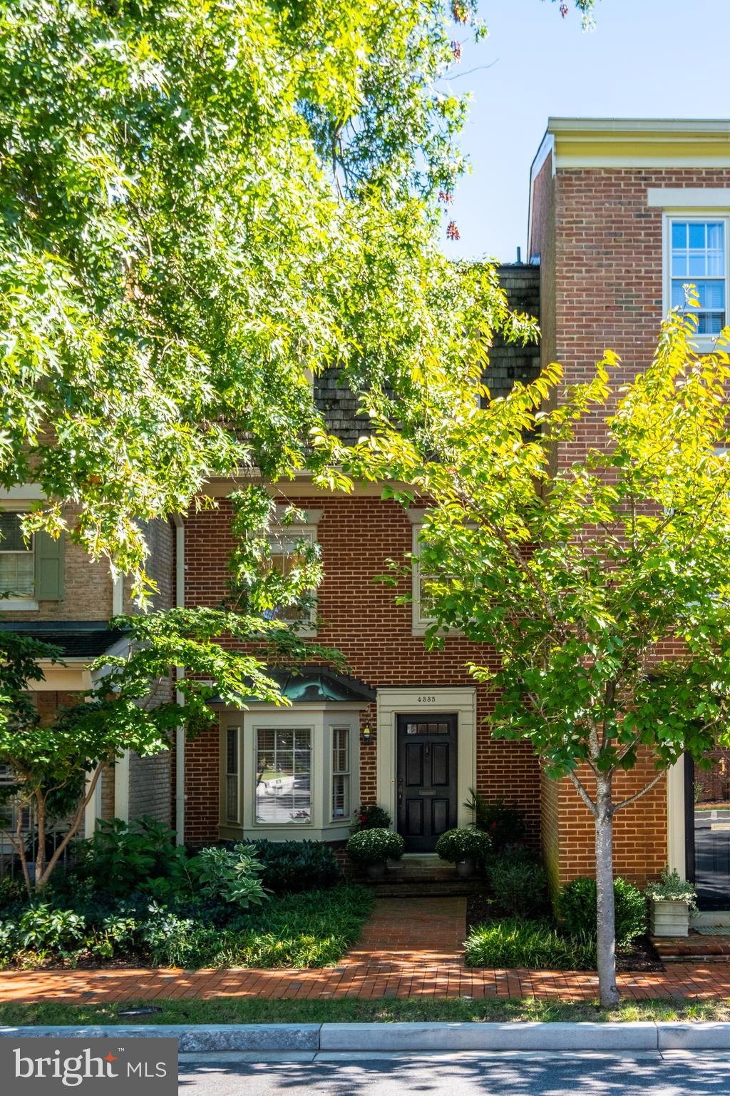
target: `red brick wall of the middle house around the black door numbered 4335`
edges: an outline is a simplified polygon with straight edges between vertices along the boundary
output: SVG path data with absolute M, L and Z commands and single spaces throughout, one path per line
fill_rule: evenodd
M 313 500 L 291 499 L 306 509 Z M 403 559 L 412 550 L 412 529 L 403 509 L 373 495 L 318 496 L 323 515 L 317 539 L 324 563 L 318 591 L 324 624 L 317 641 L 336 647 L 351 672 L 371 687 L 413 688 L 419 685 L 474 686 L 468 661 L 485 652 L 463 638 L 448 638 L 442 651 L 429 652 L 413 630 L 412 608 L 396 605 L 398 591 L 376 582 L 389 559 Z M 224 595 L 228 558 L 232 547 L 230 506 L 222 500 L 216 511 L 190 513 L 186 524 L 186 604 L 216 605 Z M 405 587 L 401 591 L 405 592 Z M 491 655 L 494 658 L 494 655 Z M 489 659 L 489 655 L 487 655 Z M 477 688 L 477 719 L 489 710 L 487 690 Z M 372 728 L 370 742 L 360 746 L 360 798 L 374 802 L 376 733 L 374 706 L 361 723 Z M 186 749 L 186 838 L 200 843 L 218 835 L 219 744 L 215 733 Z M 540 830 L 540 774 L 528 747 L 493 741 L 477 732 L 477 788 L 490 798 L 505 797 L 524 811 L 537 840 Z

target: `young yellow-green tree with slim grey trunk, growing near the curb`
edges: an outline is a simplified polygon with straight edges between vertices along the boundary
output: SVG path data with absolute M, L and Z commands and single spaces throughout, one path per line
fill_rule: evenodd
M 563 385 L 551 365 L 495 400 L 476 375 L 459 389 L 437 368 L 405 425 L 381 420 L 349 455 L 351 471 L 408 484 L 387 493 L 430 507 L 427 642 L 457 628 L 491 644 L 498 665 L 471 671 L 494 690 L 493 734 L 530 742 L 594 818 L 604 1004 L 617 998 L 614 815 L 685 751 L 706 764 L 728 734 L 730 356 L 697 356 L 694 328 L 672 313 L 652 363 L 621 389 L 610 353 L 587 384 Z M 600 439 L 586 452 L 589 419 Z M 573 443 L 554 472 L 554 447 Z M 616 774 L 641 755 L 654 774 L 618 799 Z

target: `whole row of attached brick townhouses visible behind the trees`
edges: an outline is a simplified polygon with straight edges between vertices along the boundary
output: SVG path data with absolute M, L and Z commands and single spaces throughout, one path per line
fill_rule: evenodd
M 493 393 L 533 376 L 541 358 L 560 362 L 569 381 L 586 378 L 605 347 L 633 377 L 650 359 L 661 318 L 686 281 L 699 288 L 700 343 L 709 347 L 726 322 L 729 231 L 730 123 L 551 119 L 530 173 L 529 262 L 500 272 L 512 306 L 540 316 L 542 343 L 494 349 Z M 315 384 L 333 429 L 356 437 L 362 427 L 354 401 L 332 375 Z M 598 429 L 588 422 L 558 461 L 571 460 Z M 232 487 L 212 482 L 217 510 L 190 511 L 155 529 L 161 605 L 216 605 L 224 595 Z M 12 512 L 32 496 L 24 490 L 2 500 L 0 575 L 12 575 L 21 593 L 5 603 L 0 626 L 20 621 L 68 644 L 69 665 L 49 672 L 39 694 L 53 707 L 85 680 L 89 655 L 123 641 L 107 623 L 126 594 L 71 546 L 62 559 L 37 538 L 35 563 L 11 561 L 22 551 Z M 465 670 L 477 649 L 450 635 L 443 650 L 426 651 L 417 572 L 412 605 L 396 605 L 393 590 L 374 581 L 390 558 L 413 549 L 422 512 L 405 513 L 371 487 L 345 496 L 298 477 L 286 498 L 276 490 L 278 502 L 304 512 L 298 535 L 321 546 L 324 581 L 311 632 L 345 653 L 350 675 L 312 665 L 285 677 L 292 701 L 286 709 L 217 706 L 215 731 L 178 738 L 170 755 L 148 763 L 126 758 L 97 812 L 157 811 L 194 844 L 253 836 L 340 842 L 352 810 L 378 802 L 407 849 L 428 853 L 443 830 L 471 821 L 464 802 L 475 787 L 524 812 L 554 881 L 590 872 L 592 820 L 572 786 L 541 776 L 525 745 L 490 739 L 486 690 Z M 275 532 L 275 561 L 286 566 L 291 550 L 291 534 Z M 730 758 L 717 761 L 702 778 L 691 765 L 675 766 L 617 815 L 617 872 L 644 883 L 669 863 L 696 878 L 706 902 L 730 909 Z M 625 777 L 626 790 L 636 780 Z

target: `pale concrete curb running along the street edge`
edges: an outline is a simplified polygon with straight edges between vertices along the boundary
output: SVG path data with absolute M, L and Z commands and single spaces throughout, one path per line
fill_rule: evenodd
M 179 1052 L 730 1050 L 730 1024 L 137 1024 L 2 1027 L 0 1037 L 176 1038 Z

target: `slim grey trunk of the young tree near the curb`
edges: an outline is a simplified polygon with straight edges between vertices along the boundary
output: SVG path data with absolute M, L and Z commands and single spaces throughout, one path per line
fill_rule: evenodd
M 611 777 L 599 776 L 595 792 L 596 952 L 602 1008 L 618 1004 L 616 918 L 613 894 L 613 802 Z

